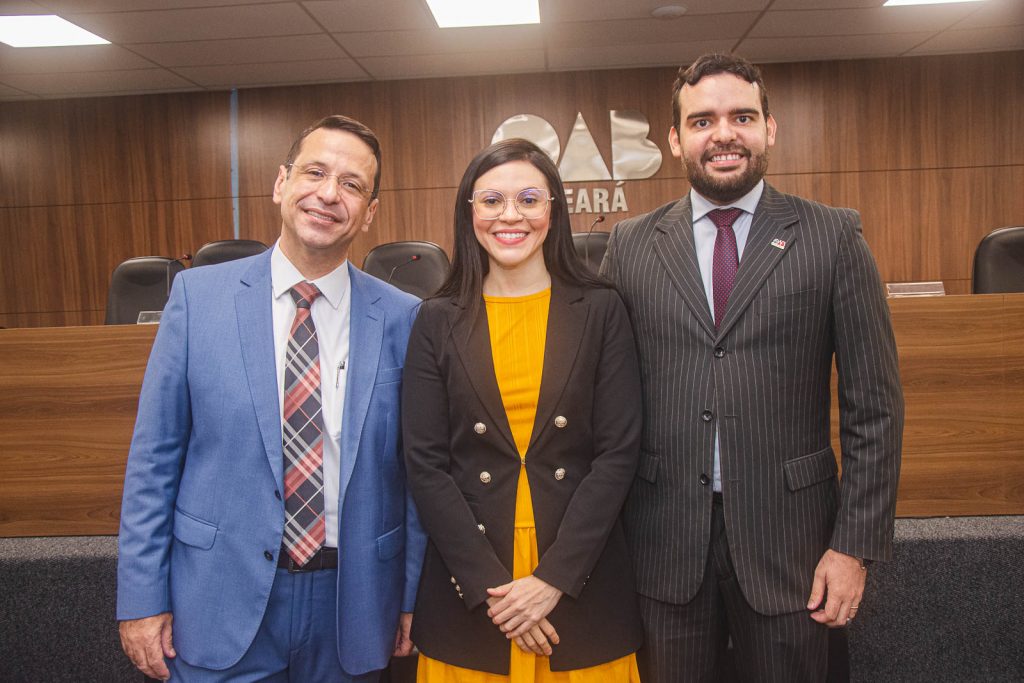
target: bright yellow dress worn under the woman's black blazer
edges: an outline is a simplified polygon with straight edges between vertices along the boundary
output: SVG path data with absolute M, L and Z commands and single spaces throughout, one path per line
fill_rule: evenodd
M 512 575 L 521 579 L 529 575 L 541 559 L 525 456 L 541 392 L 551 290 L 522 297 L 484 296 L 483 300 L 498 388 L 523 463 L 516 492 L 512 550 Z M 463 669 L 421 654 L 417 683 L 640 683 L 635 654 L 587 669 L 552 672 L 548 657 L 524 652 L 512 641 L 509 646 L 512 660 L 508 676 Z

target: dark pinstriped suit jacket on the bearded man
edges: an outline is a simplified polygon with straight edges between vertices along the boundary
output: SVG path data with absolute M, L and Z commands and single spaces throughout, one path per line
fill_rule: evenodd
M 638 590 L 682 604 L 700 587 L 717 427 L 743 595 L 765 614 L 797 611 L 826 548 L 892 553 L 903 399 L 889 307 L 857 212 L 766 184 L 716 330 L 691 221 L 689 195 L 625 220 L 602 264 L 629 309 L 643 380 L 642 454 L 625 511 Z

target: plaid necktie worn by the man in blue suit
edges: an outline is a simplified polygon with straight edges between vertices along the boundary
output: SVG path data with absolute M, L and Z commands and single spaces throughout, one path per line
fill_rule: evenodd
M 324 415 L 319 344 L 310 306 L 321 292 L 302 282 L 292 288 L 295 321 L 285 356 L 285 537 L 295 563 L 303 565 L 324 546 Z

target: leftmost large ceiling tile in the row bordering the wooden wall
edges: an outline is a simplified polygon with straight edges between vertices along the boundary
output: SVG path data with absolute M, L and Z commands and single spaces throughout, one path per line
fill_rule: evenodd
M 195 85 L 165 69 L 75 74 L 16 74 L 4 76 L 3 82 L 37 95 L 48 96 L 196 89 Z

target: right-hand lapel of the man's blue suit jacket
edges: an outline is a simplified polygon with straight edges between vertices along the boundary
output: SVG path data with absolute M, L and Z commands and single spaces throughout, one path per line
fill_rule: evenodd
M 370 275 L 364 274 L 351 263 L 348 264 L 348 274 L 352 302 L 348 333 L 349 370 L 341 422 L 340 501 L 345 500 L 345 490 L 355 468 L 359 434 L 367 421 L 384 342 L 384 311 L 377 305 L 380 297 L 369 292 L 365 286 L 365 280 Z

